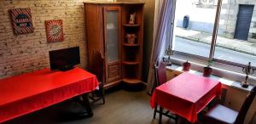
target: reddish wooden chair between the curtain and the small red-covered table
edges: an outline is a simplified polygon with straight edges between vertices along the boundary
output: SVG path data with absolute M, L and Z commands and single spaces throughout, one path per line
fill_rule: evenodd
M 154 80 L 155 80 L 154 88 L 167 82 L 166 65 L 162 61 L 159 62 L 158 67 L 156 65 L 154 65 Z M 162 115 L 164 115 L 164 116 L 174 119 L 175 123 L 177 124 L 177 119 L 178 119 L 177 115 L 170 113 L 169 110 L 164 110 L 162 107 L 160 107 L 160 110 L 158 110 L 158 104 L 155 104 L 155 107 L 154 107 L 154 118 L 155 118 L 156 112 L 158 112 L 160 114 L 159 123 L 161 123 Z

